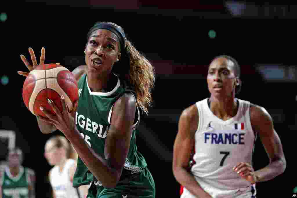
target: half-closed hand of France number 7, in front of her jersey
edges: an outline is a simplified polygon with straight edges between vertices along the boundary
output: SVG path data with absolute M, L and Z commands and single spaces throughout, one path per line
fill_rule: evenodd
M 238 163 L 235 167 L 233 167 L 233 170 L 237 172 L 241 178 L 249 181 L 252 184 L 256 183 L 257 177 L 255 171 L 249 163 Z

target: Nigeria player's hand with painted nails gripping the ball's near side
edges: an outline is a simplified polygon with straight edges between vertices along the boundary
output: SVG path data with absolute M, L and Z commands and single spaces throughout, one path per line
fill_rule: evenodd
M 71 112 L 69 112 L 68 110 L 64 96 L 61 96 L 61 103 L 63 108 L 62 112 L 59 110 L 59 108 L 54 104 L 52 100 L 48 99 L 48 104 L 50 104 L 50 106 L 53 108 L 53 111 L 56 113 L 56 115 L 49 113 L 47 110 L 45 110 L 44 107 L 40 107 L 40 110 L 47 116 L 47 118 L 39 116 L 39 119 L 42 121 L 52 123 L 57 127 L 57 129 L 64 133 L 65 136 L 67 136 L 71 134 L 75 127 L 74 115 L 78 105 L 78 100 L 73 104 L 73 109 Z

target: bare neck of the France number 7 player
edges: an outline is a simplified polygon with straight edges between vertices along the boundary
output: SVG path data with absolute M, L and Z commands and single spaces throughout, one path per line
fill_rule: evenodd
M 222 120 L 228 120 L 237 113 L 238 105 L 234 96 L 225 99 L 218 99 L 211 96 L 210 102 L 210 110 Z

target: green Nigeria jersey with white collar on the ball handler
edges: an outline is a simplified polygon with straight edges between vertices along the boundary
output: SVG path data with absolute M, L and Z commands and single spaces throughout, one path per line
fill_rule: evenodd
M 85 74 L 78 81 L 78 93 L 79 102 L 75 118 L 76 127 L 89 146 L 98 155 L 105 158 L 105 139 L 110 127 L 110 117 L 113 110 L 113 104 L 124 93 L 132 93 L 134 96 L 134 92 L 126 86 L 124 81 L 120 80 L 119 77 L 118 82 L 112 91 L 107 93 L 93 92 L 89 88 L 87 75 Z M 144 157 L 137 151 L 135 144 L 135 129 L 139 120 L 140 113 L 137 108 L 129 153 L 126 158 L 120 180 L 127 177 L 127 175 L 141 172 L 147 166 Z M 97 181 L 83 161 L 78 158 L 77 168 L 73 178 L 73 186 L 78 187 L 80 185 L 89 184 L 92 181 L 101 186 L 100 181 Z

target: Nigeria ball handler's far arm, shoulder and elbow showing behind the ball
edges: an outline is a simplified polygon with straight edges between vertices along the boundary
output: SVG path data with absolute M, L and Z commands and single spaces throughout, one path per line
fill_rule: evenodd
M 86 66 L 85 65 L 78 66 L 77 68 L 75 68 L 72 71 L 72 74 L 75 76 L 75 79 L 77 81 L 85 73 L 86 73 Z M 74 113 L 73 116 L 75 116 L 75 111 L 76 111 L 76 109 L 72 110 L 72 112 Z M 52 132 L 54 132 L 54 131 L 57 130 L 56 126 L 53 125 L 52 123 L 48 123 L 48 122 L 42 121 L 38 117 L 36 117 L 36 118 L 37 118 L 39 129 L 40 129 L 40 131 L 42 133 L 48 134 L 48 133 L 52 133 Z

